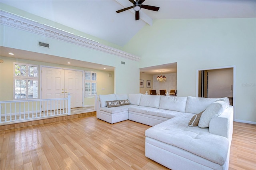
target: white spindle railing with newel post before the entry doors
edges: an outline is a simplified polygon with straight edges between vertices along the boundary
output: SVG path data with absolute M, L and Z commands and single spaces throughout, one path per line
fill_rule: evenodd
M 67 98 L 0 101 L 0 123 L 70 115 L 70 94 Z

